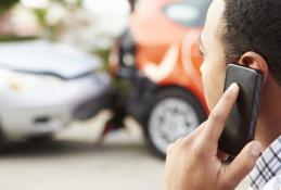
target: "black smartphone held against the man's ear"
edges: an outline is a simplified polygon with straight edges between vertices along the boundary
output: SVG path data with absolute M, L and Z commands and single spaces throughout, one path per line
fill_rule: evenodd
M 218 142 L 218 149 L 230 157 L 235 157 L 254 139 L 263 80 L 260 71 L 238 64 L 227 67 L 225 90 L 233 83 L 240 87 L 238 100 Z

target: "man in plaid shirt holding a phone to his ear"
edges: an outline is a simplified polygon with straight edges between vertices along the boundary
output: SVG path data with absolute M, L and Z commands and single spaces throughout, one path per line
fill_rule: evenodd
M 280 0 L 214 0 L 210 4 L 201 36 L 201 72 L 212 113 L 194 132 L 169 145 L 167 190 L 234 189 L 254 167 L 250 175 L 253 189 L 280 186 Z M 239 93 L 238 85 L 232 84 L 222 94 L 228 63 L 260 69 L 265 81 L 256 140 L 226 166 L 218 159 L 217 143 Z

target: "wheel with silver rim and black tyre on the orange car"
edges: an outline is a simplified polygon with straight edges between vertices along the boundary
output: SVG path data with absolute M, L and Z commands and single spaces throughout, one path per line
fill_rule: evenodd
M 195 130 L 206 114 L 194 96 L 179 88 L 159 91 L 152 102 L 143 119 L 144 134 L 151 150 L 165 159 L 167 147 Z

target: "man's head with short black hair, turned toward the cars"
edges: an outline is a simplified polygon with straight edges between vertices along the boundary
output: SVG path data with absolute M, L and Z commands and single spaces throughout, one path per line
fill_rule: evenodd
M 267 81 L 281 84 L 280 10 L 277 0 L 213 1 L 201 37 L 201 71 L 210 109 L 222 93 L 229 63 L 261 69 Z

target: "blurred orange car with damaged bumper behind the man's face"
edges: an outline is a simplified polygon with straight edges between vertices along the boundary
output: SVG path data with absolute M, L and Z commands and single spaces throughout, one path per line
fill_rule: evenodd
M 139 1 L 129 28 L 113 51 L 114 77 L 131 84 L 129 94 L 120 101 L 123 111 L 116 106 L 116 118 L 132 115 L 159 156 L 208 113 L 197 39 L 210 1 Z

